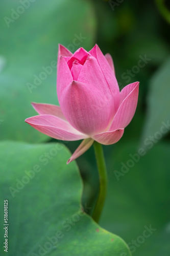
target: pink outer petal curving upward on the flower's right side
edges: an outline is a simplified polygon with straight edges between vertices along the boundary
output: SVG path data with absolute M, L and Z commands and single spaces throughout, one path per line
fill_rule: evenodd
M 125 128 L 132 120 L 138 100 L 139 82 L 126 86 L 120 93 L 120 104 L 109 131 Z

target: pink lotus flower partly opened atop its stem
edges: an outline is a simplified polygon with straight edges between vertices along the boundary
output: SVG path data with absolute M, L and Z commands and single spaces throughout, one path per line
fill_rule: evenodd
M 38 116 L 26 122 L 39 132 L 59 140 L 84 139 L 67 163 L 82 155 L 98 141 L 116 143 L 132 120 L 138 99 L 139 82 L 119 92 L 110 54 L 98 45 L 74 54 L 59 45 L 57 95 L 60 106 L 32 103 Z

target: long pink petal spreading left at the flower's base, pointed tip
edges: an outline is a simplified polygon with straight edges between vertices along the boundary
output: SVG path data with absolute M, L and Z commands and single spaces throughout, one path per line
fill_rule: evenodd
M 25 120 L 39 132 L 59 140 L 80 140 L 88 136 L 81 134 L 67 121 L 52 115 L 39 115 Z

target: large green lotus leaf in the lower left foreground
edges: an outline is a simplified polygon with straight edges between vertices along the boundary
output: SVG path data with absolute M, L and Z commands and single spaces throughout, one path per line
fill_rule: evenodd
M 8 255 L 130 255 L 122 239 L 82 211 L 82 182 L 75 162 L 66 165 L 69 157 L 57 143 L 0 143 L 1 220 L 8 199 Z M 3 236 L 1 229 L 1 244 Z

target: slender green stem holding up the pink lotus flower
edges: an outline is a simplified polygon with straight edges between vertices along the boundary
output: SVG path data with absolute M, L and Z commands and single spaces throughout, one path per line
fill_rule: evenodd
M 106 198 L 107 172 L 106 172 L 106 164 L 105 164 L 102 145 L 96 141 L 94 141 L 93 145 L 94 145 L 95 158 L 98 165 L 100 189 L 99 189 L 98 199 L 94 207 L 92 218 L 96 223 L 98 223 L 102 213 L 103 206 L 104 206 L 105 198 Z

